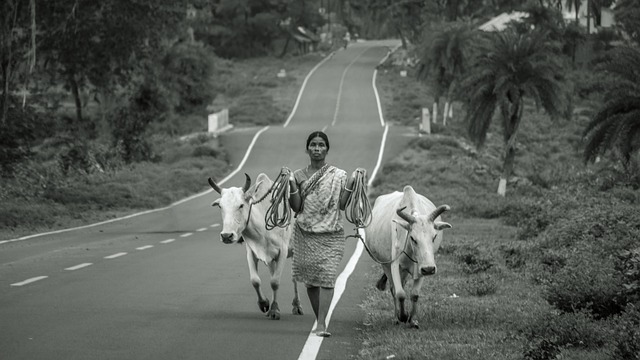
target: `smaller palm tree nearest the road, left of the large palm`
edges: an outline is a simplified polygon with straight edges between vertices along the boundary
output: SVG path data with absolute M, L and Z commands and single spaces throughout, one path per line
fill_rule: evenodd
M 472 32 L 468 24 L 455 24 L 438 32 L 422 50 L 418 80 L 434 89 L 433 122 L 438 117 L 438 102 L 446 94 L 443 124 L 451 117 L 449 108 L 458 80 L 467 67 Z

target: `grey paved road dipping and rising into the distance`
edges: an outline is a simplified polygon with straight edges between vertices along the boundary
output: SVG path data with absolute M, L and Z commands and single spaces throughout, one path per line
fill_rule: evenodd
M 309 77 L 286 126 L 234 130 L 221 137 L 240 171 L 274 177 L 307 163 L 309 132 L 326 129 L 329 162 L 371 173 L 385 133 L 372 86 L 374 67 L 392 43 L 339 51 Z M 259 114 L 256 114 L 259 116 Z M 258 135 L 258 132 L 260 134 Z M 390 128 L 385 157 L 408 139 Z M 252 141 L 255 139 L 255 142 Z M 249 156 L 246 150 L 253 144 Z M 203 183 L 206 179 L 202 179 Z M 220 179 L 219 179 L 220 180 Z M 290 314 L 290 266 L 280 290 L 280 321 L 258 310 L 242 245 L 218 240 L 220 214 L 209 192 L 167 209 L 58 234 L 0 244 L 0 359 L 297 359 L 314 317 Z M 346 224 L 347 232 L 353 226 Z M 353 253 L 351 239 L 343 260 Z M 352 280 L 372 265 L 366 253 Z M 267 270 L 260 266 L 268 289 Z M 357 352 L 357 307 L 366 284 L 347 285 L 318 359 Z

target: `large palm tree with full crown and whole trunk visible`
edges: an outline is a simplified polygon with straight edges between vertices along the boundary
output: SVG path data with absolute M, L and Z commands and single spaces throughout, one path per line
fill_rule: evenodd
M 498 194 L 504 196 L 513 171 L 525 97 L 555 117 L 563 111 L 566 94 L 562 66 L 555 55 L 557 46 L 548 41 L 547 31 L 519 33 L 507 28 L 487 35 L 485 41 L 478 42 L 478 56 L 461 89 L 468 96 L 468 133 L 478 147 L 484 144 L 494 113 L 499 110 L 505 148 Z

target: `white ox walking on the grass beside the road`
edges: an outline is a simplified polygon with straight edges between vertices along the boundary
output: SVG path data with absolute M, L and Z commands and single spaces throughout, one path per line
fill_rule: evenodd
M 371 224 L 365 229 L 371 257 L 382 265 L 384 274 L 377 283 L 384 290 L 391 279 L 395 315 L 399 321 L 418 327 L 415 319 L 420 288 L 425 276 L 436 273 L 435 254 L 442 242 L 442 231 L 451 225 L 440 214 L 448 205 L 435 207 L 411 186 L 403 192 L 380 195 L 373 206 Z M 405 286 L 413 280 L 411 313 L 405 310 Z

